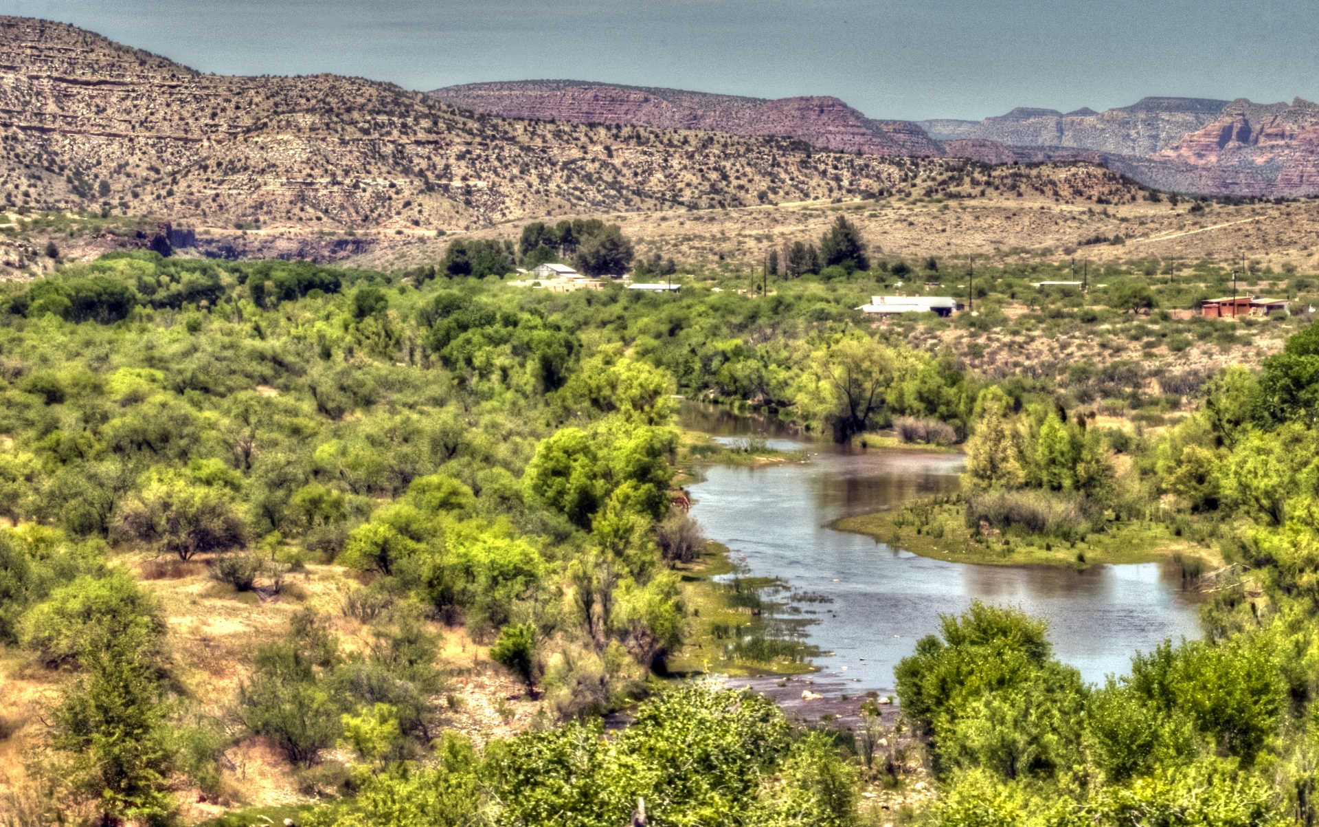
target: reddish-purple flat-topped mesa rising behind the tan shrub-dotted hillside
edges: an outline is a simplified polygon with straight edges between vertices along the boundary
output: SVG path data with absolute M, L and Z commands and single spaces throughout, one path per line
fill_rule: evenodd
M 435 90 L 430 96 L 504 117 L 774 135 L 822 149 L 880 156 L 943 154 L 921 127 L 872 120 L 838 98 L 765 100 L 582 80 L 470 83 Z

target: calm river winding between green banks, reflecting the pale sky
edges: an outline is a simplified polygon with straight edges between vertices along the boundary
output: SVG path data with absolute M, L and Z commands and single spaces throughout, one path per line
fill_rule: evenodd
M 955 491 L 958 455 L 844 452 L 774 423 L 691 402 L 682 406 L 682 422 L 725 441 L 758 434 L 773 447 L 811 452 L 805 463 L 711 467 L 689 489 L 691 516 L 704 534 L 744 558 L 751 574 L 832 600 L 798 603 L 819 621 L 806 627 L 809 642 L 835 653 L 818 661 L 827 677 L 890 690 L 893 667 L 917 640 L 938 632 L 939 615 L 962 612 L 973 599 L 1046 619 L 1055 654 L 1096 683 L 1125 674 L 1137 650 L 1199 636 L 1198 595 L 1182 588 L 1169 565 L 1078 571 L 948 563 L 828 528 L 839 517 Z

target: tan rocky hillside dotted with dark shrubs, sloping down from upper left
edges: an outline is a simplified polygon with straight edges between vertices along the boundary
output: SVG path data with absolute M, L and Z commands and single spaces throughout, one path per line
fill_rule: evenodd
M 838 140 L 861 146 L 869 133 L 845 115 Z M 74 26 L 0 17 L 0 208 L 9 212 L 406 235 L 855 197 L 943 165 L 822 153 L 785 137 L 474 115 L 361 78 L 207 75 Z

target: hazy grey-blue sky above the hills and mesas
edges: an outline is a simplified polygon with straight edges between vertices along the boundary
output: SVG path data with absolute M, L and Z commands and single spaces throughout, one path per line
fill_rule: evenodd
M 1315 0 L 0 0 L 216 74 L 835 95 L 871 117 L 1319 99 Z

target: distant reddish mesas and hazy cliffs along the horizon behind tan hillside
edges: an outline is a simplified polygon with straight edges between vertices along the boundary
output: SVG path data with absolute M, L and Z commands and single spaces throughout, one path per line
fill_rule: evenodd
M 1319 106 L 1299 98 L 1145 98 L 1105 112 L 1022 107 L 981 121 L 913 123 L 871 119 L 838 98 L 766 100 L 579 80 L 471 83 L 430 95 L 505 117 L 787 136 L 865 154 L 1091 161 L 1181 193 L 1319 194 Z

